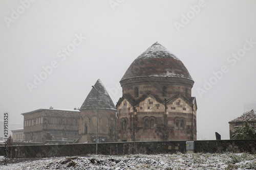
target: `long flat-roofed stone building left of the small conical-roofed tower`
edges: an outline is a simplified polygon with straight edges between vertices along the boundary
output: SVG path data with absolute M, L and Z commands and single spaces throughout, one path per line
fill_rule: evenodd
M 47 143 L 79 138 L 79 110 L 38 109 L 22 115 L 25 141 Z

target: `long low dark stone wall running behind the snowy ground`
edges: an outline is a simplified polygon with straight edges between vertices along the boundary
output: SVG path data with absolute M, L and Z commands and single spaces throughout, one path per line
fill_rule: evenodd
M 253 140 L 196 140 L 195 152 L 248 152 L 255 153 L 256 139 Z M 5 155 L 5 147 L 0 147 L 0 155 Z M 75 156 L 95 154 L 96 144 L 52 144 L 9 146 L 9 158 Z M 98 154 L 174 154 L 185 153 L 186 141 L 163 142 L 115 142 L 99 143 Z

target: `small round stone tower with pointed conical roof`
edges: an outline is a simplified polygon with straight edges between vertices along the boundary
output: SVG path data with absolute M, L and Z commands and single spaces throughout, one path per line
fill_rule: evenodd
M 116 108 L 109 93 L 100 80 L 94 85 L 80 108 L 79 142 L 96 142 L 97 108 L 98 108 L 98 141 L 113 142 L 116 140 Z M 97 92 L 99 91 L 99 93 Z M 97 98 L 98 95 L 98 98 Z M 98 105 L 97 105 L 98 101 Z

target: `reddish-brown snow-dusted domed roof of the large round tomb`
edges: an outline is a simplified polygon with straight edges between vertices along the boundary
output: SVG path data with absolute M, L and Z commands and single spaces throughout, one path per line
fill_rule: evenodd
M 158 42 L 134 60 L 121 81 L 139 77 L 174 77 L 193 81 L 180 59 Z

